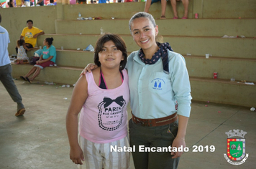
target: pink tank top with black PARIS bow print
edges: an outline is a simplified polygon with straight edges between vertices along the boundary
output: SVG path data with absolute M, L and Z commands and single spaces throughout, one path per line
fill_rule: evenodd
M 93 74 L 87 72 L 88 97 L 79 118 L 79 133 L 93 143 L 110 143 L 127 136 L 127 105 L 129 86 L 127 70 L 124 81 L 111 90 L 96 85 Z

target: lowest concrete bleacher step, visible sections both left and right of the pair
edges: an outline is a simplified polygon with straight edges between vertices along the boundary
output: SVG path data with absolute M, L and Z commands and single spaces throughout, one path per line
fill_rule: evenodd
M 30 64 L 12 64 L 13 77 L 19 78 L 29 72 Z M 78 67 L 47 67 L 42 69 L 35 81 L 75 84 L 81 74 Z M 223 104 L 252 106 L 256 100 L 256 86 L 228 79 L 190 77 L 193 100 Z M 246 97 L 244 97 L 246 96 Z

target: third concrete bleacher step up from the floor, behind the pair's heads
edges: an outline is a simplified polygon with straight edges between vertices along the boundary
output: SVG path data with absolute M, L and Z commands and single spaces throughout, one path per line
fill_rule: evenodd
M 64 49 L 86 49 L 89 44 L 94 47 L 100 36 L 100 34 L 44 34 L 37 38 L 37 43 L 42 46 L 43 39 L 53 37 L 53 45 L 57 49 L 60 49 L 60 47 L 64 47 Z M 122 34 L 121 37 L 127 44 L 128 52 L 139 49 L 131 35 Z M 256 58 L 255 38 L 163 36 L 163 42 L 169 42 L 173 51 L 180 54 L 189 53 L 203 56 L 210 53 L 214 57 Z

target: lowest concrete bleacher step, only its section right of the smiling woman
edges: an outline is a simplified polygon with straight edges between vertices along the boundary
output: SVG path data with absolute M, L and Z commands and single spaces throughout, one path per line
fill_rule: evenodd
M 252 107 L 256 100 L 256 85 L 230 82 L 228 79 L 190 77 L 193 100 Z M 193 102 L 192 100 L 192 102 Z

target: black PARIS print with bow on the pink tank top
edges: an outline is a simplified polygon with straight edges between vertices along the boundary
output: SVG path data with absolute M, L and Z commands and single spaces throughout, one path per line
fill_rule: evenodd
M 99 127 L 108 131 L 113 131 L 120 127 L 124 117 L 125 105 L 126 102 L 123 96 L 116 97 L 114 100 L 109 97 L 104 97 L 103 101 L 98 105 Z

